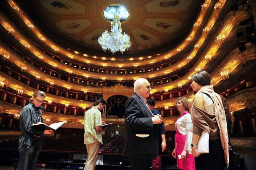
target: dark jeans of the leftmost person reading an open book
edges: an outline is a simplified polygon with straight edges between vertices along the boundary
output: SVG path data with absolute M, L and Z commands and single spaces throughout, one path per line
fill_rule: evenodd
M 24 145 L 19 150 L 17 170 L 36 170 L 36 162 L 41 151 L 41 139 L 35 138 L 32 146 Z

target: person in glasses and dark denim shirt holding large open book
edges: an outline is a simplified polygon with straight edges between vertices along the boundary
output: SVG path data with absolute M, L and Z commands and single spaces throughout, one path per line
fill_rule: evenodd
M 41 104 L 46 95 L 36 91 L 30 98 L 30 103 L 20 112 L 19 160 L 17 170 L 36 170 L 36 162 L 41 151 L 42 134 L 51 134 L 52 130 L 42 130 L 31 126 L 44 123 Z

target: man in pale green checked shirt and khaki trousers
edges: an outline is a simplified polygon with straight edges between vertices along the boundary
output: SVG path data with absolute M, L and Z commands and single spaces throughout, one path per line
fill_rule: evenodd
M 84 170 L 94 170 L 99 152 L 99 143 L 102 143 L 101 131 L 102 124 L 106 124 L 101 120 L 101 110 L 105 107 L 106 101 L 98 99 L 94 102 L 94 106 L 85 112 L 85 134 L 84 143 L 88 154 L 88 160 L 85 162 Z

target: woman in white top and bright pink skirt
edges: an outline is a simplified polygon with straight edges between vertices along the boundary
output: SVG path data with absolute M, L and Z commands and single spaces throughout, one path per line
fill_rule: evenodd
M 187 150 L 188 134 L 192 133 L 193 130 L 191 115 L 188 112 L 187 98 L 179 97 L 176 101 L 176 107 L 180 116 L 175 123 L 177 133 L 175 134 L 175 148 L 172 155 L 177 159 L 177 167 L 179 169 L 195 170 L 195 158 Z

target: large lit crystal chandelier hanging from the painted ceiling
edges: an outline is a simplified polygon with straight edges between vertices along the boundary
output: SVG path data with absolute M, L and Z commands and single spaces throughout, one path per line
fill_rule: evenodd
M 118 14 L 114 14 L 113 21 L 111 21 L 111 32 L 105 30 L 102 36 L 98 38 L 98 43 L 104 49 L 110 50 L 113 54 L 120 50 L 123 52 L 131 47 L 130 36 L 126 33 L 122 34 L 121 22 Z

